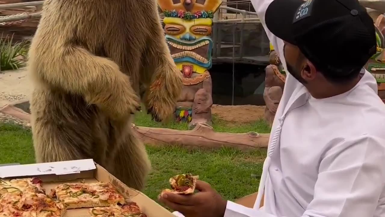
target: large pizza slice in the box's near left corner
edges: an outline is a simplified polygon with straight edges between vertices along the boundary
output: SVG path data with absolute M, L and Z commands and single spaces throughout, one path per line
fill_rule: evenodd
M 4 193 L 0 198 L 0 217 L 62 217 L 65 205 L 35 192 Z

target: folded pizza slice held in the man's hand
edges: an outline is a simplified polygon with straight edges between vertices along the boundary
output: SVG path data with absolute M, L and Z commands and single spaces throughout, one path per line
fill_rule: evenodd
M 193 176 L 190 173 L 176 175 L 170 178 L 169 182 L 171 189 L 165 189 L 161 195 L 165 192 L 172 192 L 176 194 L 193 194 L 195 190 L 196 180 L 199 176 Z

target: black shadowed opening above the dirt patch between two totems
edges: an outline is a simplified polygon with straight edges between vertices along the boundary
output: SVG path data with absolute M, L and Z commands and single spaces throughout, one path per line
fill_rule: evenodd
M 234 105 L 264 105 L 265 66 L 234 65 Z M 213 81 L 213 103 L 231 105 L 233 64 L 214 64 L 209 70 Z

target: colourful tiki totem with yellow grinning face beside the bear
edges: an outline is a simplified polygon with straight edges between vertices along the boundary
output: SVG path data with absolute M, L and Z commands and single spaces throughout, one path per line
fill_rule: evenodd
M 175 119 L 211 125 L 212 65 L 210 38 L 215 11 L 221 0 L 158 0 L 164 14 L 164 31 L 172 58 L 183 74 L 183 90 L 177 100 Z

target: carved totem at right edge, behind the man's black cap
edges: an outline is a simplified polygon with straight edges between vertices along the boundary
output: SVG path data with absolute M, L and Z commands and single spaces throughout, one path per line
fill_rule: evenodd
M 378 96 L 385 102 L 385 16 L 382 14 L 375 20 L 377 53 L 365 65 L 377 80 Z

